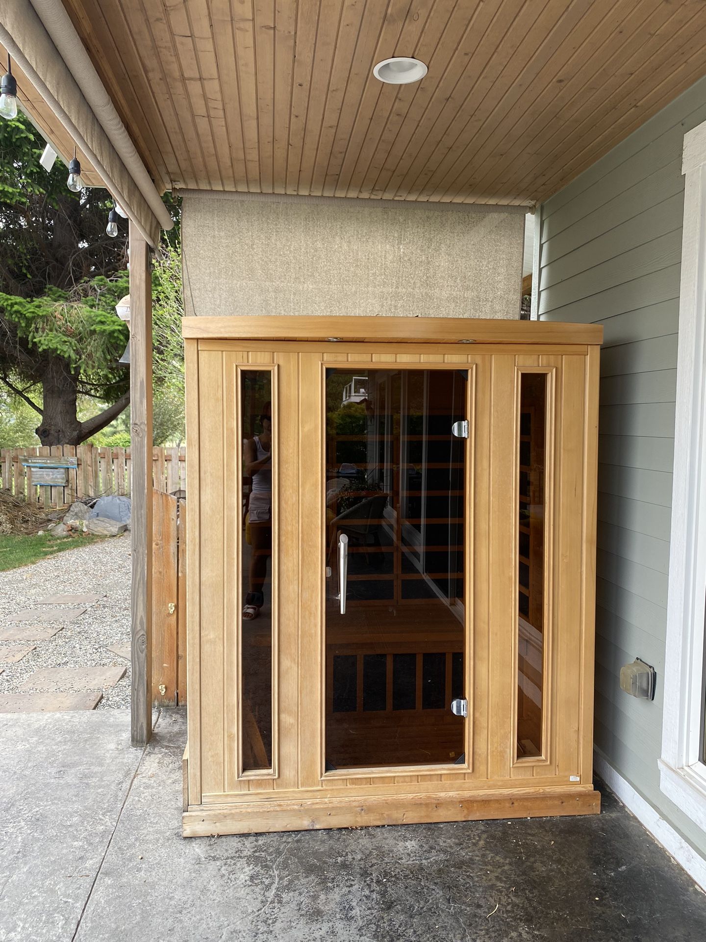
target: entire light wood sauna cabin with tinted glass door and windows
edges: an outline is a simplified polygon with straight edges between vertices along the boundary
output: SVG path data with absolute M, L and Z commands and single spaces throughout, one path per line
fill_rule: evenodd
M 184 334 L 185 836 L 597 814 L 602 328 Z

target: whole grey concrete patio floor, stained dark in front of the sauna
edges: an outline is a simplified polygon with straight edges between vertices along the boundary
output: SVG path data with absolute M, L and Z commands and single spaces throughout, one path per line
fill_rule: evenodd
M 0 716 L 0 939 L 699 940 L 706 896 L 600 818 L 184 840 L 185 717 Z

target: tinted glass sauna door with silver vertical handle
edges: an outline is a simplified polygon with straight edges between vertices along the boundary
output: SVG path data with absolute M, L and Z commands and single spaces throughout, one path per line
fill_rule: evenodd
M 327 369 L 327 771 L 464 762 L 467 387 Z

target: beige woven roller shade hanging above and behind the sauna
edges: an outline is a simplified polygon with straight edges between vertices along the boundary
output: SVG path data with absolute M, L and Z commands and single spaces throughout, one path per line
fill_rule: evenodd
M 526 207 L 182 195 L 187 314 L 520 317 Z

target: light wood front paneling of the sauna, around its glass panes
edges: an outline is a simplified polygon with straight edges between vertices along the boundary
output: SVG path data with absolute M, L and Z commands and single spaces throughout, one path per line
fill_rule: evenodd
M 189 388 L 197 377 L 192 348 L 195 343 L 188 342 L 186 349 Z M 273 348 L 276 346 L 272 345 Z M 196 484 L 189 485 L 192 494 L 199 491 L 199 500 L 190 499 L 189 538 L 192 512 L 209 521 L 208 528 L 201 530 L 198 544 L 191 546 L 201 565 L 197 587 L 201 592 L 201 639 L 196 654 L 198 667 L 191 663 L 189 653 L 189 683 L 195 674 L 194 696 L 201 696 L 201 723 L 196 717 L 191 717 L 196 707 L 189 689 L 192 700 L 189 771 L 190 778 L 195 780 L 193 787 L 190 782 L 190 803 L 197 804 L 194 796 L 197 793 L 201 795 L 195 790 L 197 786 L 201 788 L 196 768 L 200 761 L 202 791 L 208 795 L 209 802 L 219 801 L 218 796 L 224 790 L 226 801 L 229 800 L 228 794 L 233 796 L 232 801 L 238 801 L 239 796 L 245 799 L 246 793 L 253 799 L 261 795 L 265 800 L 269 793 L 267 801 L 270 802 L 275 797 L 273 791 L 289 799 L 296 798 L 300 789 L 323 791 L 323 794 L 331 796 L 346 791 L 361 796 L 383 794 L 386 793 L 384 789 L 392 789 L 387 792 L 391 800 L 394 800 L 394 788 L 405 792 L 419 789 L 433 793 L 435 787 L 446 791 L 451 788 L 497 788 L 514 780 L 517 787 L 531 790 L 534 776 L 541 779 L 542 788 L 551 787 L 556 771 L 566 786 L 568 776 L 578 769 L 579 748 L 584 751 L 585 761 L 590 752 L 586 740 L 582 745 L 579 742 L 580 736 L 587 738 L 588 742 L 590 740 L 590 704 L 586 698 L 586 684 L 590 681 L 591 664 L 589 652 L 582 649 L 582 644 L 590 639 L 586 621 L 576 614 L 582 610 L 581 592 L 592 578 L 591 572 L 582 576 L 584 559 L 580 552 L 576 552 L 582 520 L 586 520 L 591 512 L 590 496 L 584 496 L 584 482 L 591 474 L 590 469 L 585 468 L 585 460 L 595 438 L 595 420 L 590 428 L 584 428 L 584 416 L 590 418 L 595 409 L 593 400 L 593 404 L 586 405 L 586 375 L 591 375 L 590 369 L 586 374 L 586 357 L 579 354 L 567 358 L 542 356 L 534 351 L 517 355 L 514 352 L 492 354 L 474 351 L 469 355 L 425 354 L 419 350 L 384 353 L 377 350 L 368 354 L 373 358 L 371 363 L 383 366 L 393 362 L 389 357 L 411 368 L 418 368 L 418 364 L 425 362 L 439 362 L 437 359 L 426 361 L 425 357 L 443 357 L 448 358 L 445 368 L 455 368 L 463 363 L 469 369 L 467 414 L 473 431 L 467 446 L 466 467 L 469 496 L 465 509 L 468 547 L 465 605 L 470 640 L 465 673 L 471 718 L 466 726 L 465 749 L 471 771 L 438 771 L 438 767 L 425 767 L 403 768 L 398 774 L 390 770 L 392 774 L 385 774 L 386 770 L 381 768 L 380 774 L 372 776 L 362 774 L 325 779 L 322 789 L 320 776 L 326 716 L 323 574 L 326 421 L 323 368 L 326 363 L 360 363 L 361 354 L 345 348 L 317 350 L 312 349 L 313 345 L 294 342 L 291 347 L 293 349 L 250 349 L 247 356 L 249 365 L 245 367 L 273 367 L 276 374 L 273 377 L 273 447 L 276 445 L 277 455 L 273 482 L 273 494 L 276 495 L 273 502 L 273 610 L 277 609 L 273 650 L 275 771 L 262 778 L 251 773 L 239 778 L 238 761 L 233 758 L 238 752 L 241 708 L 237 700 L 241 667 L 237 662 L 238 631 L 235 628 L 239 625 L 242 607 L 238 588 L 238 560 L 242 551 L 239 535 L 242 529 L 241 495 L 238 487 L 233 487 L 233 481 L 239 482 L 242 477 L 242 433 L 237 418 L 240 414 L 237 371 L 242 368 L 242 352 L 221 352 L 204 346 L 198 367 L 198 408 L 193 399 L 187 399 L 190 482 L 194 465 L 199 468 L 198 488 Z M 547 500 L 552 500 L 554 494 L 554 520 L 553 512 L 547 511 L 548 527 L 554 531 L 554 543 L 550 535 L 547 537 L 554 546 L 553 562 L 548 568 L 556 568 L 556 585 L 560 583 L 561 592 L 558 589 L 554 592 L 556 604 L 548 615 L 548 618 L 554 615 L 554 623 L 560 627 L 558 640 L 549 651 L 545 668 L 549 691 L 545 710 L 552 714 L 554 725 L 551 729 L 557 732 L 555 736 L 553 733 L 549 764 L 541 767 L 528 764 L 513 769 L 516 730 L 512 705 L 517 685 L 513 633 L 517 633 L 518 581 L 518 367 L 531 371 L 555 370 L 560 376 L 563 359 L 569 364 L 565 370 L 569 379 L 563 383 L 556 382 L 557 449 L 564 447 L 558 433 L 560 426 L 570 429 L 570 441 L 565 458 L 557 460 L 557 484 L 554 492 L 548 487 L 547 497 Z M 550 382 L 550 398 L 552 390 Z M 550 421 L 548 449 L 552 428 Z M 198 455 L 194 454 L 194 441 L 197 442 Z M 547 467 L 551 477 L 553 466 L 549 458 Z M 560 517 L 558 508 L 561 507 L 563 512 L 567 494 L 570 495 L 568 512 Z M 590 541 L 588 529 L 586 536 Z M 293 546 L 296 552 L 291 551 Z M 193 574 L 190 569 L 188 573 L 191 587 Z M 549 591 L 552 592 L 551 586 Z M 191 600 L 190 594 L 190 605 Z M 583 618 L 590 618 L 589 606 Z M 190 641 L 193 643 L 191 636 L 193 624 L 190 625 Z M 548 643 L 546 636 L 545 643 Z M 391 663 L 389 659 L 389 674 Z M 447 674 L 450 664 L 449 659 Z M 359 707 L 362 706 L 361 667 L 360 657 Z M 208 683 L 200 689 L 201 674 L 208 676 Z M 421 707 L 421 674 L 422 658 L 418 656 L 418 707 Z M 583 714 L 580 709 L 583 709 Z M 197 729 L 194 740 L 191 739 L 192 728 Z M 192 766 L 195 767 L 193 776 Z M 589 775 L 587 771 L 585 782 L 590 781 Z

